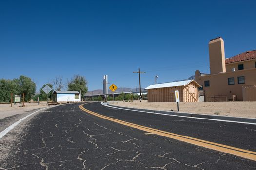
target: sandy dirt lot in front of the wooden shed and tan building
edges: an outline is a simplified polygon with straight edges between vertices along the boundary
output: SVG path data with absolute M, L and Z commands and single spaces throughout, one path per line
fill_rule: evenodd
M 110 104 L 112 103 L 113 102 L 110 102 Z M 142 102 L 116 101 L 114 105 L 139 109 L 177 111 L 177 103 L 174 102 L 148 103 L 146 100 Z M 208 115 L 256 118 L 256 102 L 180 102 L 179 111 Z

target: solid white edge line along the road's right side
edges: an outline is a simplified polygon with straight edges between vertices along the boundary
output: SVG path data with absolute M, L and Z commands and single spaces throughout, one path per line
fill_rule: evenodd
M 156 115 L 166 115 L 166 116 L 177 116 L 177 117 L 183 117 L 183 118 L 192 118 L 192 119 L 204 119 L 204 120 L 213 120 L 213 121 L 224 121 L 224 122 L 231 122 L 231 123 L 242 123 L 242 124 L 253 124 L 256 125 L 256 123 L 249 123 L 249 122 L 241 122 L 241 121 L 231 121 L 231 120 L 220 120 L 220 119 L 208 119 L 208 118 L 197 118 L 197 117 L 189 117 L 189 116 L 181 116 L 181 115 L 170 115 L 170 114 L 164 114 L 164 113 L 155 113 L 155 112 L 147 112 L 147 111 L 141 111 L 141 110 L 132 110 L 132 109 L 124 109 L 124 108 L 119 108 L 119 107 L 114 107 L 110 106 L 107 104 L 103 104 L 103 106 L 111 107 L 111 108 L 116 108 L 116 109 L 122 109 L 122 110 L 129 110 L 129 111 L 136 111 L 136 112 L 144 112 L 144 113 L 153 113 Z M 135 108 L 136 109 L 136 108 Z

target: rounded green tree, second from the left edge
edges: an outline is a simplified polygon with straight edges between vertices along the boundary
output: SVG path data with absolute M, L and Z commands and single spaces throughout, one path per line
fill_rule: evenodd
M 31 78 L 21 75 L 19 79 L 14 79 L 20 86 L 20 94 L 25 94 L 25 101 L 29 101 L 36 93 L 36 84 Z

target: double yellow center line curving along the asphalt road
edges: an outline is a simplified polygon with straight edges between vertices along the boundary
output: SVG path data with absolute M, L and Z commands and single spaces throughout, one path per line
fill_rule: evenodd
M 219 143 L 214 143 L 214 142 L 210 142 L 210 141 L 206 141 L 206 140 L 201 140 L 201 139 L 197 139 L 197 138 L 193 138 L 193 137 L 189 137 L 189 136 L 178 135 L 178 134 L 174 134 L 174 133 L 170 133 L 170 132 L 166 132 L 166 131 L 161 131 L 161 130 L 158 130 L 158 129 L 153 129 L 153 128 L 149 128 L 149 127 L 146 127 L 146 126 L 141 126 L 141 125 L 138 125 L 138 124 L 129 123 L 129 122 L 126 122 L 126 121 L 110 118 L 110 117 L 92 112 L 90 110 L 87 110 L 83 107 L 83 105 L 84 104 L 80 105 L 79 108 L 81 110 L 89 113 L 89 114 L 92 114 L 92 115 L 97 116 L 99 118 L 106 119 L 106 120 L 109 120 L 109 121 L 113 121 L 113 122 L 116 122 L 116 123 L 119 123 L 119 124 L 122 124 L 122 125 L 125 125 L 125 126 L 129 126 L 129 127 L 132 127 L 132 128 L 136 128 L 136 129 L 145 131 L 145 132 L 147 132 L 147 134 L 156 134 L 156 135 L 159 135 L 159 136 L 169 137 L 169 138 L 176 139 L 176 140 L 179 140 L 179 141 L 182 141 L 182 142 L 190 143 L 190 144 L 201 146 L 201 147 L 204 147 L 204 148 L 213 149 L 213 150 L 224 152 L 224 153 L 233 154 L 233 155 L 236 155 L 236 156 L 240 156 L 240 157 L 243 157 L 243 158 L 247 158 L 247 159 L 251 159 L 251 160 L 256 161 L 256 152 L 253 152 L 253 151 L 248 151 L 248 150 L 244 150 L 244 149 L 240 149 L 240 148 L 235 148 L 235 147 L 228 146 L 228 145 L 222 145 L 222 144 L 219 144 Z

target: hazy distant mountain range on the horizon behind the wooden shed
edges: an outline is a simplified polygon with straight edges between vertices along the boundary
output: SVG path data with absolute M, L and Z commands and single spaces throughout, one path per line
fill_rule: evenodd
M 190 76 L 187 79 L 184 80 L 195 80 L 195 76 Z M 184 81 L 184 80 L 175 80 L 172 82 L 178 82 L 178 81 Z M 144 88 L 141 88 L 141 92 L 144 91 Z M 122 93 L 122 92 L 138 92 L 139 93 L 139 88 L 126 88 L 126 87 L 120 87 L 118 88 L 115 93 Z M 111 90 L 108 90 L 109 94 L 113 94 L 113 92 Z M 98 90 L 93 90 L 93 91 L 88 91 L 88 93 L 86 93 L 85 95 L 87 96 L 91 96 L 91 95 L 98 95 L 98 94 L 103 94 L 103 90 L 98 89 Z

